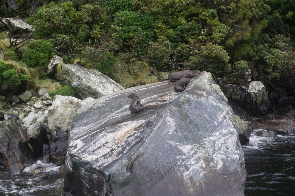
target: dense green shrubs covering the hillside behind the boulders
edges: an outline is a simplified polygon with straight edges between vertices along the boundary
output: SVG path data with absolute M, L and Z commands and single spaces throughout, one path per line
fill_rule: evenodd
M 251 69 L 256 80 L 295 88 L 293 0 L 61 2 L 50 1 L 29 18 L 35 38 L 47 40 L 24 52 L 30 67 L 44 66 L 54 51 L 66 62 L 80 59 L 112 78 L 119 59 L 130 75 L 136 74 L 130 61 L 148 62 L 158 71 L 199 69 L 219 77 L 243 76 Z

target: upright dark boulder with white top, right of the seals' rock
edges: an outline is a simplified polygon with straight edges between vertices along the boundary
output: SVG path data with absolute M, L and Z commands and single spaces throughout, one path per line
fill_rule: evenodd
M 249 85 L 246 112 L 254 117 L 261 117 L 267 114 L 269 103 L 265 86 L 260 81 L 253 81 Z

